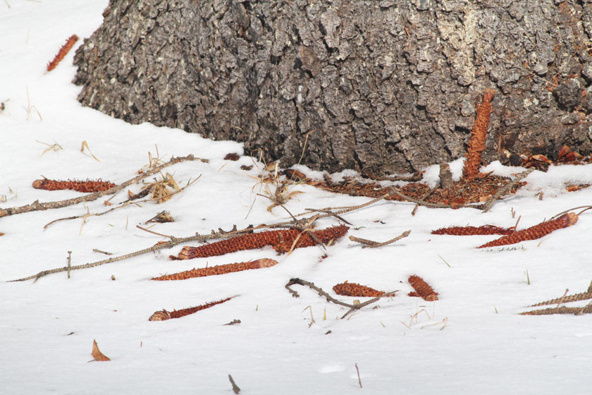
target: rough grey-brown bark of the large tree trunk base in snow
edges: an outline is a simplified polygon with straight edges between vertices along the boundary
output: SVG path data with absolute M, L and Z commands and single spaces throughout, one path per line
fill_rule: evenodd
M 592 149 L 592 4 L 559 0 L 111 0 L 75 55 L 78 99 L 261 148 L 285 167 L 386 174 Z

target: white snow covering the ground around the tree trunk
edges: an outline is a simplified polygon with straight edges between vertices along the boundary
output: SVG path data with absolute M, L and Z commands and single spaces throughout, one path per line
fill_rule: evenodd
M 326 252 L 311 247 L 276 256 L 264 248 L 168 260 L 178 246 L 77 270 L 70 279 L 61 272 L 36 282 L 6 282 L 63 267 L 68 251 L 72 264 L 82 265 L 105 258 L 94 248 L 123 255 L 164 241 L 136 228 L 148 226 L 144 222 L 163 210 L 175 221 L 151 230 L 177 237 L 289 219 L 281 207 L 268 212 L 270 201 L 257 196 L 264 193 L 264 184 L 257 180 L 263 164 L 255 162 L 252 170 L 243 171 L 242 164 L 254 163 L 248 155 L 238 162 L 223 160 L 229 152 L 243 154 L 242 145 L 149 124 L 132 126 L 81 107 L 76 101 L 80 87 L 70 83 L 74 49 L 54 71 L 45 71 L 70 35 L 81 37 L 76 48 L 99 27 L 106 4 L 0 4 L 0 102 L 5 105 L 0 113 L 0 197 L 6 200 L 0 207 L 80 195 L 33 189 L 32 181 L 42 176 L 122 183 L 148 163 L 149 152 L 156 157 L 156 147 L 165 162 L 173 155 L 194 154 L 209 163 L 168 167 L 181 186 L 201 175 L 171 200 L 92 216 L 83 226 L 81 219 L 73 219 L 44 230 L 54 219 L 105 211 L 106 198 L 0 219 L 0 232 L 5 233 L 0 237 L 1 394 L 231 394 L 228 374 L 241 394 L 588 393 L 591 315 L 517 313 L 561 296 L 566 288 L 569 293 L 586 291 L 592 279 L 589 212 L 574 226 L 516 248 L 478 250 L 476 246 L 495 236 L 434 236 L 430 231 L 467 224 L 513 226 L 518 216 L 519 227 L 525 228 L 566 209 L 590 205 L 591 188 L 568 193 L 565 183 L 592 183 L 592 165 L 534 171 L 524 188 L 485 214 L 471 208 L 420 207 L 412 216 L 412 203 L 385 201 L 345 214 L 353 225 L 349 235 L 384 241 L 412 231 L 382 248 L 362 249 L 345 237 Z M 83 141 L 100 162 L 88 150 L 81 152 Z M 61 149 L 47 150 L 54 143 Z M 315 178 L 323 176 L 305 165 L 297 168 Z M 458 178 L 462 160 L 452 162 L 451 168 Z M 523 169 L 493 163 L 486 170 L 512 175 Z M 333 178 L 352 174 L 343 171 Z M 433 185 L 437 176 L 436 166 L 426 169 L 428 183 Z M 140 186 L 127 189 L 137 193 Z M 292 213 L 369 200 L 312 186 L 290 190 L 303 192 L 286 204 Z M 121 202 L 125 195 L 127 190 L 111 202 Z M 318 222 L 319 228 L 335 224 L 334 219 Z M 322 259 L 324 253 L 328 256 Z M 261 257 L 279 264 L 216 277 L 149 281 L 159 274 Z M 411 274 L 431 284 L 440 300 L 407 296 Z M 313 281 L 333 296 L 332 286 L 345 280 L 399 292 L 340 320 L 345 310 L 309 288 L 292 286 L 300 293 L 293 298 L 284 288 L 291 277 Z M 237 297 L 180 319 L 148 321 L 156 310 L 228 296 Z M 354 299 L 338 298 L 349 303 Z M 234 319 L 241 324 L 223 325 Z M 89 363 L 93 339 L 110 362 Z

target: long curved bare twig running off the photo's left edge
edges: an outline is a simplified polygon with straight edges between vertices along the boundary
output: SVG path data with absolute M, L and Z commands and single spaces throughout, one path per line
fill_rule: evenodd
M 170 161 L 168 161 L 164 164 L 161 164 L 160 166 L 156 166 L 152 169 L 149 169 L 148 171 L 140 174 L 139 176 L 131 178 L 130 180 L 125 181 L 124 183 L 121 183 L 118 186 L 114 186 L 111 189 L 101 190 L 99 192 L 90 193 L 88 195 L 83 195 L 83 196 L 79 196 L 79 197 L 73 197 L 72 199 L 59 200 L 57 202 L 39 202 L 39 200 L 35 200 L 35 202 L 32 202 L 30 205 L 24 205 L 24 206 L 20 206 L 20 207 L 10 207 L 7 209 L 0 209 L 0 217 L 6 217 L 8 215 L 21 214 L 23 212 L 32 212 L 32 211 L 37 211 L 37 210 L 59 209 L 62 207 L 77 205 L 78 203 L 81 203 L 81 202 L 91 202 L 92 200 L 99 199 L 99 197 L 101 197 L 101 196 L 117 193 L 120 190 L 123 190 L 123 188 L 130 186 L 132 183 L 140 181 L 142 178 L 145 178 L 145 177 L 150 176 L 152 174 L 158 173 L 166 166 L 171 166 L 171 164 L 176 164 L 176 163 L 185 162 L 185 161 L 193 161 L 193 160 L 200 160 L 200 161 L 204 162 L 207 159 L 196 158 L 193 155 L 187 155 L 187 157 L 172 157 Z

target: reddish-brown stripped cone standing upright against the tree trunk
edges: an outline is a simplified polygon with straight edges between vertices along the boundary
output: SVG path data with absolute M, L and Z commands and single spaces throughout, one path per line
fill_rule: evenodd
M 489 115 L 491 114 L 491 100 L 495 96 L 495 91 L 486 89 L 483 92 L 483 102 L 477 106 L 477 115 L 475 123 L 471 130 L 471 138 L 467 147 L 466 160 L 462 168 L 462 178 L 471 180 L 479 175 L 481 167 L 481 152 L 485 150 L 485 141 L 487 139 L 487 128 L 489 126 Z

